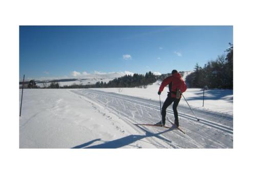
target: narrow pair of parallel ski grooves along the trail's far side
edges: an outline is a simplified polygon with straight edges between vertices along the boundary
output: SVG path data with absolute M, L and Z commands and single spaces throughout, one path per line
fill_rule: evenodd
M 86 91 L 88 93 L 94 93 L 94 94 L 98 94 L 98 95 L 109 96 L 109 97 L 113 97 L 113 98 L 120 99 L 120 100 L 123 100 L 123 101 L 136 103 L 136 104 L 139 104 L 139 105 L 142 105 L 142 106 L 145 106 L 145 107 L 151 107 L 151 108 L 154 108 L 154 109 L 160 111 L 160 108 L 158 106 L 155 106 L 155 105 L 152 105 L 152 104 L 147 104 L 147 103 L 127 99 L 127 98 L 123 98 L 123 97 L 120 97 L 120 96 L 110 95 L 109 93 L 104 93 L 104 92 L 101 93 L 101 92 L 98 92 L 98 91 L 96 92 L 95 90 L 89 90 L 89 89 L 85 90 L 84 89 L 84 91 Z M 173 110 L 167 109 L 166 111 L 168 113 L 173 113 Z M 223 125 L 223 124 L 220 124 L 220 123 L 216 123 L 216 122 L 212 122 L 212 121 L 202 119 L 202 118 L 199 118 L 200 121 L 197 121 L 197 119 L 195 117 L 193 117 L 191 115 L 181 113 L 181 112 L 179 112 L 179 116 L 183 117 L 183 118 L 187 118 L 191 121 L 195 121 L 196 123 L 204 124 L 205 126 L 209 126 L 209 127 L 216 128 L 216 129 L 222 130 L 224 132 L 233 134 L 233 128 L 231 128 L 229 126 L 226 126 L 226 125 Z

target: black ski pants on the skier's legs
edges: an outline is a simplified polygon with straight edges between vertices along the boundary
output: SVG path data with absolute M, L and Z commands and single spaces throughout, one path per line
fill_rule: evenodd
M 162 107 L 162 121 L 164 124 L 165 124 L 166 109 L 173 102 L 174 102 L 174 105 L 173 105 L 174 117 L 175 117 L 176 121 L 179 121 L 177 107 L 179 105 L 180 99 L 176 99 L 176 98 L 167 96 L 166 100 L 163 103 L 163 107 Z

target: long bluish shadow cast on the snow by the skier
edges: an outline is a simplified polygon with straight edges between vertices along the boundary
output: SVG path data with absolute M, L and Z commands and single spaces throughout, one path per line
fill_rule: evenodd
M 156 138 L 159 138 L 159 139 L 167 142 L 170 145 L 172 144 L 172 141 L 161 137 L 160 134 L 171 131 L 174 128 L 169 128 L 167 130 L 164 130 L 164 131 L 158 132 L 158 133 L 152 133 L 150 131 L 147 131 L 147 130 L 143 129 L 140 126 L 138 126 L 138 127 L 140 129 L 142 129 L 143 131 L 145 131 L 146 134 L 145 135 L 130 135 L 130 136 L 126 136 L 126 137 L 123 137 L 123 138 L 120 138 L 120 139 L 117 139 L 117 140 L 113 140 L 113 141 L 101 141 L 101 139 L 95 139 L 95 140 L 89 141 L 87 143 L 75 146 L 73 148 L 120 148 L 120 147 L 130 145 L 130 144 L 132 144 L 132 143 L 134 143 L 138 140 L 141 140 L 143 138 L 148 138 L 148 137 L 156 137 Z M 98 144 L 98 145 L 94 145 L 94 146 L 89 146 L 90 144 L 92 144 L 96 141 L 101 141 L 103 143 Z M 89 146 L 89 147 L 87 147 L 87 146 Z

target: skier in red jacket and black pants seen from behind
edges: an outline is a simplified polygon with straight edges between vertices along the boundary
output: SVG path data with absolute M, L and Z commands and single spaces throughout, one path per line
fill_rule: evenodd
M 187 89 L 187 85 L 185 81 L 181 78 L 181 75 L 178 73 L 177 70 L 172 71 L 172 75 L 165 78 L 161 83 L 158 91 L 158 95 L 161 95 L 164 87 L 169 84 L 169 92 L 167 95 L 166 100 L 163 103 L 162 107 L 162 121 L 160 121 L 159 125 L 165 125 L 165 115 L 166 115 L 166 108 L 174 102 L 173 110 L 174 110 L 174 124 L 179 127 L 179 118 L 178 118 L 178 111 L 177 107 L 180 102 L 181 94 L 184 93 Z

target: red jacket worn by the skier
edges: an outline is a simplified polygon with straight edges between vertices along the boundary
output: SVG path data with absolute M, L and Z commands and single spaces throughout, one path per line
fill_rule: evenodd
M 159 92 L 162 92 L 163 88 L 168 84 L 169 84 L 169 91 L 170 91 L 169 93 L 172 94 L 172 98 L 176 98 L 177 88 L 180 89 L 181 93 L 184 93 L 187 89 L 187 85 L 185 81 L 181 78 L 181 75 L 179 73 L 175 73 L 172 76 L 165 78 L 159 87 Z

